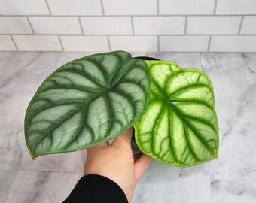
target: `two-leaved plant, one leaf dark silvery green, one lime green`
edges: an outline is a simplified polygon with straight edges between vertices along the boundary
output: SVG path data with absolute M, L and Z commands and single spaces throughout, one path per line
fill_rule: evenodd
M 212 83 L 197 69 L 116 51 L 58 68 L 29 103 L 25 138 L 32 158 L 82 150 L 134 126 L 153 159 L 194 166 L 218 157 Z

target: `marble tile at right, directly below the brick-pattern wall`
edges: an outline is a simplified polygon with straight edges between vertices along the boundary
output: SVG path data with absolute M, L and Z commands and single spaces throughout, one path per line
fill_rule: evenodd
M 256 99 L 254 55 L 203 53 L 202 70 L 209 75 L 216 99 Z

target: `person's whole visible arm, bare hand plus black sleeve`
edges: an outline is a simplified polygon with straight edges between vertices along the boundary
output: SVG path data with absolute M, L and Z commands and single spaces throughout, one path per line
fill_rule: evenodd
M 133 156 L 132 136 L 133 128 L 114 138 L 111 145 L 105 141 L 88 148 L 85 176 L 64 203 L 131 202 L 136 183 L 151 162 L 145 154 Z M 78 196 L 83 198 L 72 200 Z

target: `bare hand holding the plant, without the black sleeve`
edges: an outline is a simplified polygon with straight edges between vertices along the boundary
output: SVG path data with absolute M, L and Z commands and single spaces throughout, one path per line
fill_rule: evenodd
M 151 158 L 145 154 L 133 156 L 133 127 L 114 138 L 87 149 L 84 175 L 99 174 L 117 183 L 131 202 L 136 183 L 148 168 Z

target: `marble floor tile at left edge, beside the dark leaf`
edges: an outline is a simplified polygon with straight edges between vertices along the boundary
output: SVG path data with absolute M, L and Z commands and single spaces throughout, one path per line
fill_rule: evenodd
M 23 118 L 30 98 L 0 95 L 0 202 L 8 198 L 23 156 Z

